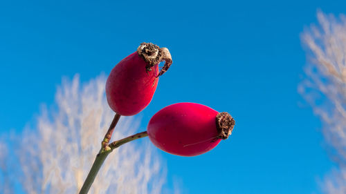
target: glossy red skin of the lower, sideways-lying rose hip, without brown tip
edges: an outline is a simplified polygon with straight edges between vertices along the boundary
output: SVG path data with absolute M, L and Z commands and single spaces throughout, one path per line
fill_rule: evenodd
M 147 133 L 152 143 L 174 155 L 195 156 L 215 148 L 218 112 L 195 103 L 178 103 L 159 110 L 150 119 Z

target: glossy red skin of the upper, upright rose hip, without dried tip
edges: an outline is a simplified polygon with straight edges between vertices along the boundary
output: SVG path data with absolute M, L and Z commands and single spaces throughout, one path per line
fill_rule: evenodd
M 148 71 L 146 66 L 144 59 L 134 52 L 111 70 L 106 95 L 114 112 L 123 116 L 136 115 L 152 101 L 158 84 L 158 64 Z

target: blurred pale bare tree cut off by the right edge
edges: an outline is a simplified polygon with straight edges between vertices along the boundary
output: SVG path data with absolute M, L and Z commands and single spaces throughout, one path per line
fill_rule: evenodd
M 318 12 L 318 26 L 302 33 L 310 63 L 298 90 L 322 121 L 329 154 L 338 164 L 325 178 L 325 193 L 346 193 L 346 18 Z

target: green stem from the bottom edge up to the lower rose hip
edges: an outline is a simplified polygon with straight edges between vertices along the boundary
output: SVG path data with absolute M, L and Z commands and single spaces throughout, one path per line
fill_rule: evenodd
M 102 148 L 100 153 L 98 153 L 98 155 L 96 156 L 95 161 L 93 162 L 93 166 L 91 167 L 91 170 L 89 171 L 89 174 L 86 177 L 86 180 L 84 181 L 82 188 L 80 189 L 80 194 L 86 194 L 89 192 L 91 184 L 93 184 L 93 181 L 95 180 L 95 177 L 98 174 L 98 171 L 100 171 L 100 168 L 104 160 L 107 158 L 109 153 L 111 153 L 111 151 L 113 151 L 115 148 L 118 148 L 122 144 L 126 144 L 127 142 L 131 142 L 136 139 L 140 139 L 142 137 L 147 137 L 147 136 L 148 136 L 147 131 L 144 131 L 142 133 L 136 133 L 135 135 L 131 135 L 129 137 L 125 137 L 118 141 L 112 142 L 106 148 Z

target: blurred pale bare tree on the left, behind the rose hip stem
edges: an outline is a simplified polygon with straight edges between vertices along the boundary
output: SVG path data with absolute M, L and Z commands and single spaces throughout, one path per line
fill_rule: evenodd
M 55 106 L 43 107 L 33 128 L 15 135 L 12 141 L 19 138 L 21 144 L 1 147 L 1 151 L 11 149 L 11 153 L 0 152 L 0 157 L 7 158 L 5 169 L 15 172 L 16 179 L 1 175 L 10 183 L 19 183 L 28 194 L 78 193 L 114 115 L 105 97 L 105 81 L 103 75 L 82 85 L 78 75 L 72 81 L 64 79 Z M 120 130 L 112 138 L 136 133 L 139 123 L 135 117 L 122 117 L 117 124 Z M 107 157 L 89 193 L 162 193 L 163 171 L 149 142 L 127 144 Z M 6 188 L 7 193 L 15 193 L 15 188 Z

